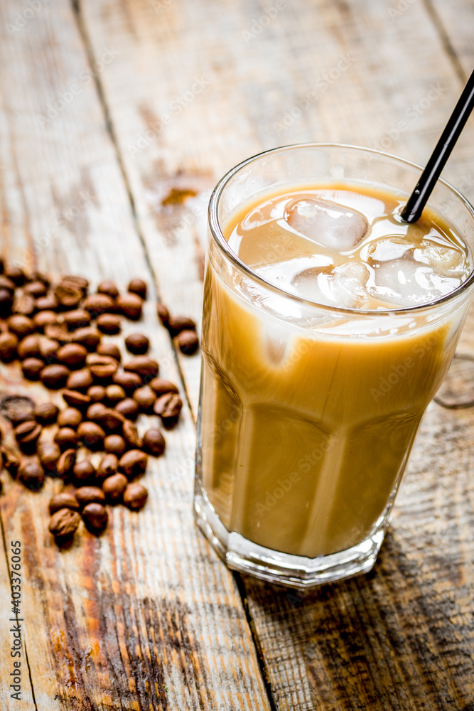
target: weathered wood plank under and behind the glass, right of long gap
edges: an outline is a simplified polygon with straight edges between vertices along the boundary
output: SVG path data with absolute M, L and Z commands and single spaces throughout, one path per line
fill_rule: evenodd
M 100 81 L 163 296 L 176 303 L 183 289 L 200 287 L 193 225 L 166 245 L 173 220 L 187 214 L 179 207 L 169 222 L 163 217 L 169 186 L 189 188 L 198 177 L 208 187 L 245 156 L 308 140 L 362 144 L 423 163 L 461 89 L 421 3 L 392 16 L 396 4 L 388 0 L 293 0 L 270 21 L 253 1 L 118 7 L 85 0 L 81 7 L 95 55 L 104 38 L 120 38 L 122 53 Z M 451 19 L 453 27 L 463 22 Z M 138 72 L 145 65 L 149 71 Z M 124 97 L 123 77 L 132 70 Z M 208 86 L 173 111 L 196 76 Z M 468 126 L 445 171 L 470 198 L 473 146 Z M 165 260 L 153 255 L 154 245 L 166 247 Z M 463 348 L 472 353 L 471 332 L 468 326 Z M 197 373 L 184 373 L 195 403 Z M 278 709 L 470 708 L 470 417 L 431 406 L 392 533 L 367 579 L 303 596 L 244 578 Z M 463 442 L 459 453 L 454 442 Z

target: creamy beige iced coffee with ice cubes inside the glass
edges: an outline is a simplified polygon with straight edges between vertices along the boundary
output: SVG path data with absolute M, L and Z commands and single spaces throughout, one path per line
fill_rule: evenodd
M 262 194 L 225 239 L 266 282 L 316 304 L 377 314 L 452 292 L 472 269 L 463 240 L 406 198 L 354 184 Z M 215 268 L 205 280 L 200 470 L 227 530 L 306 557 L 365 540 L 402 474 L 441 383 L 461 316 L 440 306 L 387 326 L 318 309 Z

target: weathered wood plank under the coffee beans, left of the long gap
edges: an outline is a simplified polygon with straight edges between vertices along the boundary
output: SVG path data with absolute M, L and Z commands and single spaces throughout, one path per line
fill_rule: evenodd
M 123 333 L 147 333 L 163 377 L 178 382 L 72 8 L 51 0 L 9 32 L 15 16 L 0 4 L 1 252 L 54 277 L 83 274 L 92 288 L 104 277 L 121 289 L 132 276 L 144 277 L 145 319 L 124 324 Z M 121 51 L 113 35 L 100 49 L 103 65 Z M 0 375 L 2 392 L 26 387 L 16 365 L 2 366 Z M 41 385 L 26 389 L 48 399 Z M 150 461 L 146 508 L 115 509 L 107 533 L 96 539 L 82 530 L 70 550 L 58 550 L 48 533 L 48 499 L 58 482 L 34 494 L 3 477 L 6 538 L 21 539 L 24 549 L 23 630 L 38 709 L 268 707 L 235 581 L 195 533 L 194 439 L 186 409 L 166 434 L 166 456 Z M 0 597 L 9 599 L 3 573 Z M 2 654 L 2 684 L 8 663 Z M 27 683 L 23 690 L 28 707 Z M 3 696 L 1 707 L 16 705 Z

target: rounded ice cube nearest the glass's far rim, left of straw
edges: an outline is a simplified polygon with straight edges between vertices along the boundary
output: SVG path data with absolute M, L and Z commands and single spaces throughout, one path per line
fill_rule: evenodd
M 308 240 L 338 252 L 355 249 L 368 229 L 356 210 L 320 198 L 303 198 L 286 205 L 286 222 Z

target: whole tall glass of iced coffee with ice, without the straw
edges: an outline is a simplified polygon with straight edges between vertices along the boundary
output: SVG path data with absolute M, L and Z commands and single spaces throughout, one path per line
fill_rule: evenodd
M 418 166 L 286 146 L 212 193 L 195 516 L 230 567 L 296 587 L 367 572 L 473 295 L 474 211 Z

